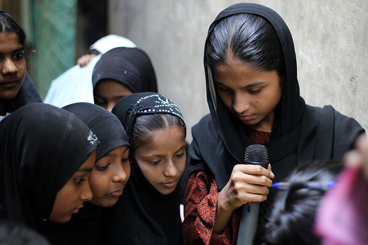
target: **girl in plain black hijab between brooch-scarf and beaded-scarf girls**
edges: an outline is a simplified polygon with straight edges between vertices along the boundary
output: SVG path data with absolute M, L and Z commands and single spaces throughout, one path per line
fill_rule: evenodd
M 53 245 L 95 245 L 99 243 L 101 207 L 117 202 L 131 173 L 128 137 L 118 118 L 98 105 L 82 102 L 63 109 L 86 123 L 100 144 L 89 177 L 92 199 L 68 223 L 47 222 L 48 236 Z

